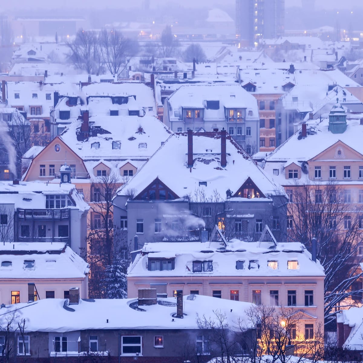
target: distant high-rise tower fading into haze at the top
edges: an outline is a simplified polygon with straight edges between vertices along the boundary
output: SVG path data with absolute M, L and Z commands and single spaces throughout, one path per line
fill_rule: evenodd
M 236 0 L 236 37 L 242 46 L 284 34 L 285 0 Z

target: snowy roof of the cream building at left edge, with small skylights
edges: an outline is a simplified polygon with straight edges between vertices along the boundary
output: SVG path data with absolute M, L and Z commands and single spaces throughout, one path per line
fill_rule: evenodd
M 60 242 L 1 243 L 0 261 L 11 262 L 10 266 L 0 266 L 0 279 L 85 278 L 89 272 L 87 262 Z

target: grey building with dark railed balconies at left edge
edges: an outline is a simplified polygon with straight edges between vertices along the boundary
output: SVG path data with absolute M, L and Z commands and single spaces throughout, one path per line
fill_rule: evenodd
M 74 185 L 1 181 L 0 192 L 1 242 L 64 242 L 84 253 L 89 206 Z

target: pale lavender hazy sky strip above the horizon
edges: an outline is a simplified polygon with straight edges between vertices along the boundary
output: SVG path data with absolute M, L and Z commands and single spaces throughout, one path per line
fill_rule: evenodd
M 301 5 L 301 0 L 285 0 L 286 7 L 293 5 Z M 155 7 L 158 4 L 165 5 L 167 3 L 178 4 L 182 3 L 186 6 L 200 7 L 201 4 L 209 4 L 209 7 L 216 7 L 218 4 L 231 4 L 234 6 L 235 0 L 150 0 L 151 6 Z M 315 0 L 316 8 L 356 8 L 360 7 L 363 9 L 363 1 L 362 0 Z M 44 8 L 44 9 L 54 9 L 54 8 L 62 8 L 65 9 L 69 7 L 72 9 L 73 7 L 77 8 L 124 8 L 124 7 L 135 7 L 137 5 L 142 4 L 142 0 L 16 0 L 16 5 L 14 5 L 13 1 L 1 1 L 1 8 L 4 10 L 16 10 L 17 9 L 34 9 L 34 8 Z

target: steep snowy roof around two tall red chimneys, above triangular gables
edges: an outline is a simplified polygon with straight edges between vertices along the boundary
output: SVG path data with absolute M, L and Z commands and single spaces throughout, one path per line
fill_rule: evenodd
M 201 190 L 206 197 L 220 191 L 233 193 L 251 178 L 264 195 L 276 194 L 279 189 L 245 151 L 227 136 L 227 166 L 221 168 L 221 135 L 214 132 L 193 134 L 193 167 L 187 167 L 187 134 L 172 134 L 136 175 L 121 189 L 119 195 L 133 188 L 138 195 L 153 180 L 159 178 L 179 197 Z M 163 166 L 163 167 L 160 167 Z M 207 185 L 199 185 L 206 182 Z

